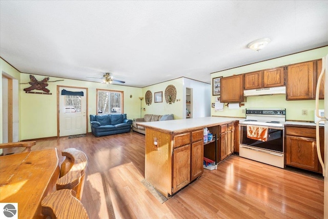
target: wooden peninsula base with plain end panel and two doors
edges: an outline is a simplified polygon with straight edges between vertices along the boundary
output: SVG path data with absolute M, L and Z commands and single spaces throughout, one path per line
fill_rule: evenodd
M 203 173 L 203 147 L 203 129 L 171 134 L 146 128 L 146 180 L 169 198 Z

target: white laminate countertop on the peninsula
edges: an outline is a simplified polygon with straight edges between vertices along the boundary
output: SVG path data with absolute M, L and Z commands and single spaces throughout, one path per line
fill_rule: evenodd
M 174 133 L 181 133 L 189 130 L 202 129 L 205 127 L 218 126 L 218 125 L 227 124 L 243 119 L 244 118 L 240 118 L 240 117 L 208 116 L 208 117 L 201 117 L 201 118 L 187 118 L 181 120 L 142 122 L 142 123 L 137 123 L 137 125 L 144 126 L 145 128 L 152 128 L 162 132 L 174 134 Z

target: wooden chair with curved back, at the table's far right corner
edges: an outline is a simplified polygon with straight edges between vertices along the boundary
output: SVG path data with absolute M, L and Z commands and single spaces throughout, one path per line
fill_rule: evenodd
M 87 168 L 87 156 L 83 151 L 68 148 L 61 152 L 66 159 L 60 166 L 59 179 L 56 189 L 72 189 L 76 192 L 76 198 L 81 200 L 83 194 L 85 171 Z

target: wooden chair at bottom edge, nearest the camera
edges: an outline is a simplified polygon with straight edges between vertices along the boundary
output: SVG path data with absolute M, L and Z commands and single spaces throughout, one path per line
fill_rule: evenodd
M 82 203 L 72 195 L 71 189 L 61 189 L 47 195 L 42 200 L 41 206 L 42 213 L 52 219 L 89 218 Z

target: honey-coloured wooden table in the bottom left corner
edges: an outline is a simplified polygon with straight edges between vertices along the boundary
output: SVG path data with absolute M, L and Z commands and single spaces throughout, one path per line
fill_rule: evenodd
M 55 148 L 0 157 L 0 202 L 18 203 L 18 218 L 42 218 L 41 201 L 55 190 Z

